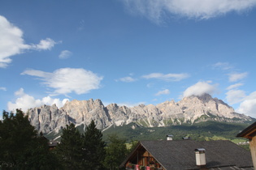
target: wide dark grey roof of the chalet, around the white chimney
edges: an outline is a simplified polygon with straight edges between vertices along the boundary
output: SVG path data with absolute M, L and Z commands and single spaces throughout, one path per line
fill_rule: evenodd
M 149 151 L 154 159 L 166 169 L 197 169 L 194 152 L 197 148 L 206 150 L 206 168 L 253 167 L 249 151 L 230 141 L 141 141 L 137 148 L 139 146 Z M 136 149 L 133 152 L 135 151 Z M 128 158 L 122 164 L 123 166 Z

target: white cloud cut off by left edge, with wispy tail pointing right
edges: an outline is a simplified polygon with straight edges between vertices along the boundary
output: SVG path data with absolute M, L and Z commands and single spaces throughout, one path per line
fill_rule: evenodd
M 38 45 L 26 45 L 22 30 L 2 15 L 0 15 L 0 37 L 0 68 L 5 68 L 11 63 L 11 56 L 24 53 L 28 49 L 51 49 L 56 44 L 54 40 L 46 38 L 46 40 L 41 40 Z

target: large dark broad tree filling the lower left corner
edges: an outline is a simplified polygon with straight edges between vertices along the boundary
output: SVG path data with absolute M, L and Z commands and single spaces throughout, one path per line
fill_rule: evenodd
M 48 141 L 30 125 L 28 116 L 3 111 L 0 121 L 0 169 L 56 169 Z

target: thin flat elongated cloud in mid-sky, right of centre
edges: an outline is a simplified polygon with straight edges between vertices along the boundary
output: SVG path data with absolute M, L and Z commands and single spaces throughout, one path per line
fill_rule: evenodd
M 180 81 L 189 77 L 189 74 L 162 74 L 162 73 L 151 73 L 143 75 L 145 79 L 162 79 L 164 81 Z

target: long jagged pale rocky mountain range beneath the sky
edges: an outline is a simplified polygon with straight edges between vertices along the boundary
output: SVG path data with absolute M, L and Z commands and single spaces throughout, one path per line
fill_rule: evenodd
M 234 109 L 222 100 L 205 94 L 189 96 L 178 101 L 166 101 L 162 104 L 140 104 L 128 108 L 117 104 L 106 107 L 101 100 L 72 100 L 64 104 L 63 108 L 56 105 L 43 105 L 28 110 L 28 118 L 37 130 L 48 133 L 59 131 L 65 125 L 89 125 L 95 121 L 98 129 L 105 129 L 110 125 L 125 125 L 136 122 L 143 126 L 181 125 L 200 121 L 252 121 L 251 117 L 235 113 Z

